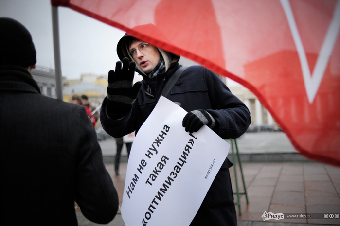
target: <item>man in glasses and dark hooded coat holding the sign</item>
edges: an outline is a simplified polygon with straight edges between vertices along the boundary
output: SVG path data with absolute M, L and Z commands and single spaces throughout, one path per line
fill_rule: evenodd
M 117 52 L 123 68 L 117 62 L 115 71 L 108 73 L 107 97 L 100 119 L 108 134 L 122 137 L 138 132 L 162 89 L 182 66 L 179 56 L 128 34 L 118 42 Z M 143 81 L 133 85 L 134 70 L 143 76 Z M 245 104 L 214 72 L 202 66 L 186 68 L 166 97 L 188 112 L 183 127 L 190 133 L 205 124 L 221 138 L 237 138 L 251 123 Z M 232 165 L 226 158 L 191 225 L 237 225 L 229 175 Z

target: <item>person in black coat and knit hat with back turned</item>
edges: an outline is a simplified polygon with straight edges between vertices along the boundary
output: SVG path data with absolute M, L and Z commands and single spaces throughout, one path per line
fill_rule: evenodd
M 77 225 L 74 202 L 109 223 L 118 194 L 84 106 L 41 95 L 29 31 L 11 18 L 0 24 L 0 225 Z

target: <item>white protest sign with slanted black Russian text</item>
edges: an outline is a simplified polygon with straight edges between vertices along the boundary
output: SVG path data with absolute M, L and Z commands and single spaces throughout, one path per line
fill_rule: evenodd
M 209 127 L 185 132 L 186 113 L 161 97 L 138 131 L 125 177 L 126 226 L 189 225 L 226 159 L 229 144 Z

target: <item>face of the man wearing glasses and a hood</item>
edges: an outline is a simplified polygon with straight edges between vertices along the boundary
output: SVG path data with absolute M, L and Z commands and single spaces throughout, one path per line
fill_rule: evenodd
M 136 55 L 133 56 L 133 59 L 140 66 L 145 74 L 150 73 L 158 64 L 161 59 L 161 54 L 158 51 L 157 47 L 148 44 L 147 48 L 142 52 L 138 49 L 141 44 L 145 43 L 144 41 L 136 40 L 130 45 L 129 51 L 135 49 Z

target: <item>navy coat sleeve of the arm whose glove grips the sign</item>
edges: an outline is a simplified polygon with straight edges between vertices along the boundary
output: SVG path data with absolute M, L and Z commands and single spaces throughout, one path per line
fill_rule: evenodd
M 251 124 L 251 115 L 246 105 L 234 96 L 229 88 L 212 71 L 207 70 L 206 82 L 212 109 L 207 111 L 218 123 L 215 132 L 224 139 L 238 138 Z

